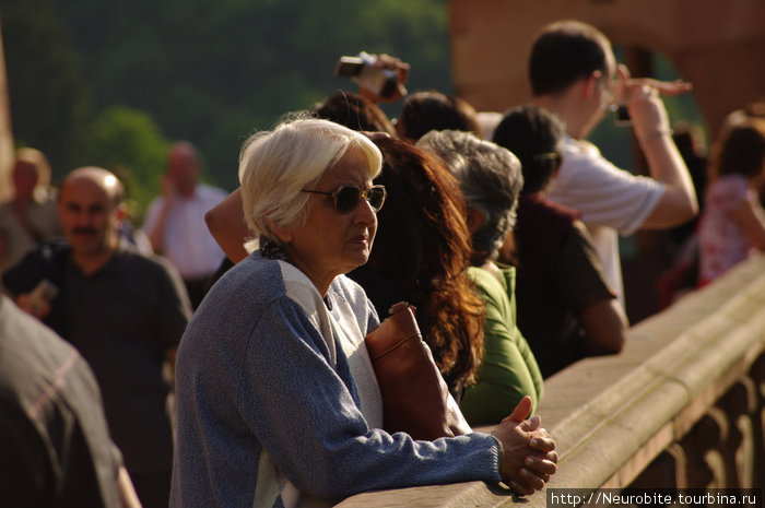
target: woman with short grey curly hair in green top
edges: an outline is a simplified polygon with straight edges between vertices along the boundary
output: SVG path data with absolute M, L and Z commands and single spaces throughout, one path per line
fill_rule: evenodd
M 444 158 L 460 182 L 473 240 L 468 274 L 486 306 L 485 353 L 478 382 L 462 395 L 462 413 L 471 425 L 496 423 L 523 395 L 531 397 L 536 411 L 542 375 L 516 324 L 515 269 L 494 262 L 515 224 L 523 185 L 520 163 L 509 151 L 468 132 L 431 131 L 417 146 Z

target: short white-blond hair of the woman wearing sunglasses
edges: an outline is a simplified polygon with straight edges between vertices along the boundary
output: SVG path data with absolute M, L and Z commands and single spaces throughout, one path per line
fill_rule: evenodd
M 239 181 L 249 228 L 272 241 L 279 238 L 268 223 L 282 227 L 306 221 L 306 203 L 321 175 L 348 150 L 360 150 L 368 161 L 369 178 L 380 172 L 382 157 L 365 135 L 329 120 L 294 114 L 272 131 L 252 134 L 239 153 Z M 248 241 L 248 250 L 257 243 Z

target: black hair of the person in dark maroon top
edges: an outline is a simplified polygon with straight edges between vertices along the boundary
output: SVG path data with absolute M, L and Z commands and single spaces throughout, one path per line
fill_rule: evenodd
M 549 110 L 533 105 L 508 110 L 494 130 L 493 141 L 513 152 L 523 172 L 522 194 L 543 190 L 560 167 L 563 122 Z

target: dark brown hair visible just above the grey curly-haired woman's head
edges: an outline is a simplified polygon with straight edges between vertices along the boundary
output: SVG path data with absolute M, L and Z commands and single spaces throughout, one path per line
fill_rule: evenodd
M 432 130 L 459 130 L 482 135 L 475 109 L 467 101 L 433 90 L 407 96 L 398 119 L 402 138 L 417 141 Z

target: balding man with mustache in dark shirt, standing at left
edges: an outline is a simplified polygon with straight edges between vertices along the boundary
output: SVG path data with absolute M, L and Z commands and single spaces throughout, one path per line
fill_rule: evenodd
M 3 284 L 91 364 L 139 498 L 146 507 L 167 506 L 173 439 L 163 369 L 175 362 L 191 311 L 169 262 L 120 240 L 123 198 L 122 184 L 106 169 L 73 170 L 57 203 L 67 241 L 28 253 Z M 49 304 L 35 296 L 43 280 L 58 288 Z

